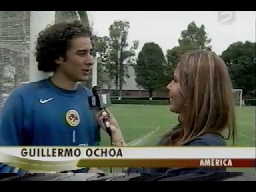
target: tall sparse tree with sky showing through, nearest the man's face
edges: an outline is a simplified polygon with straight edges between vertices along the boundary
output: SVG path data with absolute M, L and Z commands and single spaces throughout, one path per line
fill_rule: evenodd
M 132 47 L 128 50 L 127 36 L 129 28 L 130 24 L 127 21 L 114 21 L 109 27 L 108 71 L 111 75 L 114 75 L 116 94 L 119 84 L 119 98 L 122 97 L 122 86 L 125 83 L 124 76 L 129 77 L 124 62 L 132 64 L 135 50 L 138 48 L 138 41 L 134 41 Z

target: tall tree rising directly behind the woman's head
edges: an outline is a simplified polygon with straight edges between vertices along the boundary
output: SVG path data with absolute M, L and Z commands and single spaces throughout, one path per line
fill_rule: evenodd
M 198 27 L 194 21 L 188 24 L 186 30 L 181 32 L 178 42 L 179 46 L 167 50 L 166 84 L 173 78 L 173 72 L 180 61 L 182 54 L 186 53 L 188 50 L 212 49 L 212 47 L 208 45 L 210 44 L 211 39 L 208 38 L 205 26 L 201 25 Z

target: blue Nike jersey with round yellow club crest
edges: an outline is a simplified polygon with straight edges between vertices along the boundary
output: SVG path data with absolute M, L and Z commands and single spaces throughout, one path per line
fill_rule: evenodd
M 0 145 L 99 145 L 100 127 L 88 104 L 91 95 L 81 84 L 68 91 L 50 78 L 16 88 L 0 117 Z

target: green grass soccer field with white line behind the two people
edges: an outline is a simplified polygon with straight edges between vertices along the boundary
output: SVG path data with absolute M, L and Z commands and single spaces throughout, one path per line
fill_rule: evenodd
M 159 138 L 177 124 L 177 114 L 168 105 L 112 104 L 109 110 L 122 129 L 126 143 L 136 146 L 154 146 Z M 255 146 L 255 106 L 236 107 L 236 146 Z M 110 145 L 102 131 L 101 145 Z M 232 145 L 232 141 L 227 141 Z

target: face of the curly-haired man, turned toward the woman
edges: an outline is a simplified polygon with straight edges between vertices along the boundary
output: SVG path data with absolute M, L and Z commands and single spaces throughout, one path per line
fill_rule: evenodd
M 88 80 L 93 64 L 92 42 L 89 37 L 74 38 L 66 52 L 66 60 L 60 57 L 57 70 L 68 79 L 78 82 Z

